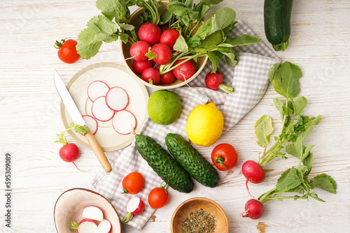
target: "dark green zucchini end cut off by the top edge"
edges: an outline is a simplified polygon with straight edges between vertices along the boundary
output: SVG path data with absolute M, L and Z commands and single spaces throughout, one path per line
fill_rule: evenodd
M 275 51 L 286 50 L 290 36 L 293 0 L 265 0 L 265 35 Z

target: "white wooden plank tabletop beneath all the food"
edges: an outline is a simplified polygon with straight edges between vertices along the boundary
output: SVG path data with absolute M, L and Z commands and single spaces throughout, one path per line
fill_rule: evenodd
M 121 63 L 119 44 L 104 45 L 88 61 L 74 64 L 59 61 L 52 46 L 61 38 L 77 38 L 90 17 L 99 10 L 94 0 L 0 0 L 0 227 L 2 232 L 55 232 L 53 207 L 57 197 L 69 188 L 92 188 L 90 181 L 100 166 L 92 151 L 80 146 L 76 161 L 58 156 L 55 134 L 63 129 L 59 115 L 59 96 L 52 82 L 52 70 L 62 74 L 64 82 L 81 68 L 98 62 Z M 237 17 L 262 40 L 263 1 L 225 0 L 223 6 L 237 11 Z M 292 35 L 283 61 L 296 63 L 304 73 L 301 95 L 309 105 L 305 114 L 323 116 L 307 142 L 313 143 L 314 167 L 311 176 L 327 172 L 337 181 L 337 195 L 316 190 L 325 203 L 316 200 L 267 202 L 260 220 L 241 218 L 249 196 L 244 188 L 240 167 L 245 160 L 258 159 L 253 125 L 262 114 L 274 119 L 278 130 L 279 113 L 272 98 L 279 97 L 270 86 L 261 102 L 218 143 L 228 142 L 239 153 L 237 167 L 221 172 L 221 186 L 214 189 L 197 185 L 193 193 L 170 192 L 167 206 L 155 212 L 140 232 L 169 232 L 169 221 L 176 206 L 190 197 L 209 197 L 223 206 L 230 220 L 230 232 L 348 232 L 350 227 L 350 1 L 294 1 Z M 198 148 L 209 158 L 214 146 Z M 4 156 L 13 155 L 12 227 L 4 227 Z M 113 153 L 109 153 L 113 156 Z M 274 160 L 265 167 L 267 179 L 251 185 L 251 193 L 260 195 L 273 188 L 281 172 L 296 160 Z M 124 226 L 125 232 L 138 232 Z

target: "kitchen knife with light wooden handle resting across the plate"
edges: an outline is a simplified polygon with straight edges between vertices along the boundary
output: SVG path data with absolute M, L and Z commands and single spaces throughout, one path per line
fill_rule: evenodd
M 64 82 L 62 81 L 61 76 L 59 76 L 57 70 L 54 71 L 53 77 L 55 80 L 57 92 L 59 93 L 59 96 L 61 96 L 64 106 L 66 107 L 67 112 L 71 116 L 71 119 L 76 125 L 85 126 L 87 128 L 83 117 L 81 117 L 78 107 L 76 107 L 76 103 L 74 103 L 73 99 L 71 98 L 71 94 L 66 89 L 66 85 L 64 85 Z M 96 155 L 97 159 L 99 160 L 99 163 L 101 163 L 104 170 L 106 172 L 111 172 L 112 167 L 109 163 L 108 158 L 106 157 L 106 154 L 99 145 L 99 142 L 97 142 L 96 138 L 91 133 L 90 129 L 87 129 L 89 130 L 89 132 L 87 133 L 87 135 L 85 135 L 85 137 L 89 142 L 92 151 L 94 151 L 94 154 Z

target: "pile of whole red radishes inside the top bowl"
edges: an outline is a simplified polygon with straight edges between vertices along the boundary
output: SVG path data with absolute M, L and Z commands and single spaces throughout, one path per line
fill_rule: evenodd
M 195 63 L 192 59 L 179 59 L 179 52 L 173 50 L 179 38 L 176 29 L 162 30 L 151 22 L 141 24 L 139 39 L 130 47 L 134 62 L 132 68 L 141 75 L 142 80 L 150 84 L 171 84 L 178 79 L 186 81 L 195 75 Z M 165 66 L 167 71 L 160 66 Z

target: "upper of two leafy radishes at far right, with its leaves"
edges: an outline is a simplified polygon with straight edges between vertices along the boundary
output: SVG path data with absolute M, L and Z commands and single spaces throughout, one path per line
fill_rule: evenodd
M 255 123 L 256 142 L 264 150 L 260 154 L 258 163 L 250 160 L 242 166 L 242 173 L 247 181 L 252 183 L 260 183 L 265 179 L 263 167 L 269 161 L 279 156 L 286 158 L 281 149 L 285 148 L 291 156 L 301 158 L 302 154 L 308 151 L 303 149 L 305 138 L 313 126 L 316 126 L 322 119 L 321 116 L 307 117 L 302 115 L 302 110 L 307 105 L 307 99 L 303 96 L 296 98 L 300 93 L 299 79 L 302 77 L 302 71 L 298 66 L 288 61 L 283 64 L 276 63 L 269 70 L 268 75 L 272 87 L 286 98 L 286 102 L 283 103 L 278 98 L 274 98 L 274 105 L 281 115 L 282 127 L 281 133 L 274 137 L 275 142 L 269 149 L 267 149 L 269 136 L 274 131 L 272 119 L 264 115 Z

